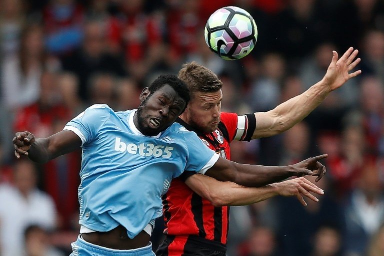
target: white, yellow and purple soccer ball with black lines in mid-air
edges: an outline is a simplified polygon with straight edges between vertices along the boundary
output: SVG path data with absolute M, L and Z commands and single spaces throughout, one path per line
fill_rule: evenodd
M 209 49 L 220 58 L 240 59 L 253 49 L 257 40 L 257 26 L 246 10 L 226 6 L 209 16 L 204 37 Z

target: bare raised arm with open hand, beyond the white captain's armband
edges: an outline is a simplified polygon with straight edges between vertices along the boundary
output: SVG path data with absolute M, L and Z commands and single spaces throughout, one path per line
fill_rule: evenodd
M 329 92 L 359 75 L 361 70 L 350 72 L 360 62 L 360 58 L 356 58 L 357 53 L 358 50 L 349 47 L 338 59 L 337 52 L 333 51 L 332 61 L 319 82 L 270 111 L 254 113 L 257 125 L 252 139 L 268 137 L 288 130 L 313 111 Z

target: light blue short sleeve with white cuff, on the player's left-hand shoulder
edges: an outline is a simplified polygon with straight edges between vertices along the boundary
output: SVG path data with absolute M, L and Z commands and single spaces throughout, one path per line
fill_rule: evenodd
M 109 118 L 110 111 L 107 105 L 92 105 L 70 120 L 63 130 L 74 132 L 84 145 L 95 138 L 101 125 Z

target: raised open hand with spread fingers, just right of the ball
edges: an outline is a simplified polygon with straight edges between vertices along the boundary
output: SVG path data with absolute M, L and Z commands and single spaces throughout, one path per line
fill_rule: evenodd
M 326 84 L 329 86 L 329 90 L 333 91 L 343 85 L 350 78 L 361 74 L 361 70 L 357 70 L 349 73 L 360 62 L 360 58 L 355 59 L 358 50 L 353 50 L 349 47 L 344 54 L 338 59 L 336 51 L 333 52 L 332 61 L 330 62 L 328 69 L 326 70 L 325 79 Z

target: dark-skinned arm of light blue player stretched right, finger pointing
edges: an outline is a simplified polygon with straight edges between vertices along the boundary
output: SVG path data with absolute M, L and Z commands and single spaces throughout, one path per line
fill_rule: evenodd
M 325 166 L 320 162 L 328 155 L 307 158 L 288 166 L 263 166 L 238 164 L 220 157 L 205 175 L 219 181 L 232 181 L 246 187 L 261 187 L 282 181 L 292 176 L 317 176 L 316 182 L 325 174 Z

